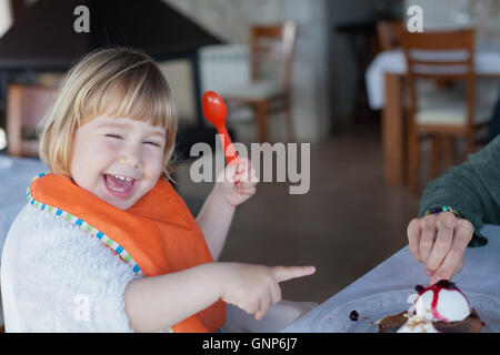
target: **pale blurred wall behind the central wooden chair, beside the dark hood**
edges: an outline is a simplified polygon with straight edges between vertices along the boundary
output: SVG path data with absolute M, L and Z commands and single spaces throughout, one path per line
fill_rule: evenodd
M 298 22 L 293 121 L 299 141 L 327 136 L 331 124 L 328 0 L 163 0 L 230 43 L 248 43 L 251 23 Z M 284 132 L 282 120 L 272 120 Z M 271 128 L 271 132 L 277 131 Z

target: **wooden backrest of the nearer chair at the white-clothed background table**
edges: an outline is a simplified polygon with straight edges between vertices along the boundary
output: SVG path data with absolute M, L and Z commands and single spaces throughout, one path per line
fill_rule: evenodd
M 407 61 L 410 114 L 417 111 L 416 80 L 464 81 L 468 124 L 473 124 L 476 104 L 474 30 L 400 32 Z

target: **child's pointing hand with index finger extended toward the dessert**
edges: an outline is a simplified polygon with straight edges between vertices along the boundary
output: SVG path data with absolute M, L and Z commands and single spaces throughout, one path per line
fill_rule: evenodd
M 263 266 L 240 263 L 224 264 L 221 298 L 261 320 L 269 307 L 281 301 L 280 282 L 312 275 L 313 266 Z

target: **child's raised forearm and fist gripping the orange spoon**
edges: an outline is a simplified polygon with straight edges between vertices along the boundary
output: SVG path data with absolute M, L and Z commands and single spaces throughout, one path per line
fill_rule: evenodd
M 257 178 L 250 161 L 240 159 L 238 165 L 228 165 L 217 181 L 197 216 L 214 261 L 226 243 L 236 207 L 256 193 Z

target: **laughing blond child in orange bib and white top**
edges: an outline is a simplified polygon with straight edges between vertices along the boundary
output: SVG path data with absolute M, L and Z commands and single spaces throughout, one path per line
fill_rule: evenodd
M 31 182 L 3 250 L 8 332 L 217 332 L 226 304 L 261 320 L 280 282 L 314 272 L 217 262 L 256 192 L 251 165 L 229 165 L 194 220 L 168 182 L 176 131 L 148 55 L 106 49 L 72 68 L 41 134 L 51 173 Z

